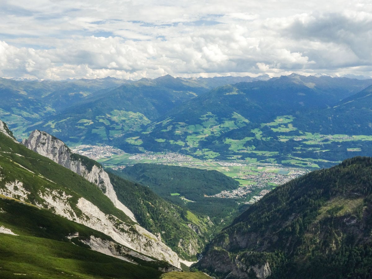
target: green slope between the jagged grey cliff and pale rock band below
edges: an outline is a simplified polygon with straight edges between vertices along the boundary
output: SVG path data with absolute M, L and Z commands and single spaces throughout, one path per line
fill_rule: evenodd
M 22 182 L 25 189 L 32 193 L 29 196 L 32 203 L 42 202 L 38 198 L 39 190 L 42 192 L 45 188 L 62 190 L 67 195 L 73 196 L 72 201 L 77 202 L 78 198 L 84 197 L 104 213 L 113 214 L 129 224 L 133 223 L 128 216 L 113 205 L 99 187 L 52 160 L 13 142 L 1 133 L 0 166 L 3 168 L 1 173 L 5 174 L 4 179 L 0 181 L 0 186 L 15 180 Z

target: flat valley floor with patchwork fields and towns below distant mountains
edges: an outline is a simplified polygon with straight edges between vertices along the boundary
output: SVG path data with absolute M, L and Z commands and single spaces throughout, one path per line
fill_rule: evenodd
M 126 165 L 137 163 L 161 163 L 172 166 L 217 170 L 237 180 L 240 187 L 235 190 L 223 191 L 213 195 L 213 197 L 233 198 L 243 203 L 257 201 L 276 186 L 310 171 L 310 169 L 285 167 L 269 163 L 198 160 L 178 153 L 147 152 L 143 154 L 128 154 L 109 146 L 84 145 L 83 148 L 75 148 L 74 151 L 96 160 L 98 159 L 104 166 L 114 169 L 124 168 Z M 179 196 L 180 199 L 184 199 L 186 202 L 192 202 L 179 193 L 169 193 L 169 195 Z

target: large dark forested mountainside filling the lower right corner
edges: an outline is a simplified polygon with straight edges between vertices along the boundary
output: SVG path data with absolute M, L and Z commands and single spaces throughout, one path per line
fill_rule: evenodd
M 347 159 L 264 196 L 196 266 L 218 278 L 370 278 L 371 213 L 372 158 Z

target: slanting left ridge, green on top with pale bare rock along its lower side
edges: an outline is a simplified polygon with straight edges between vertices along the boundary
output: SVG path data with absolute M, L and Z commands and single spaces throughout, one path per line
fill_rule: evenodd
M 97 185 L 3 133 L 0 137 L 2 195 L 48 208 L 55 214 L 109 235 L 117 243 L 180 267 L 176 253 L 116 208 Z

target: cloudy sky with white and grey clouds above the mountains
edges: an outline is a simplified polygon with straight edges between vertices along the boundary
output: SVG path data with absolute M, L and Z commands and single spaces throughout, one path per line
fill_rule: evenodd
M 371 0 L 0 0 L 0 77 L 372 76 Z

